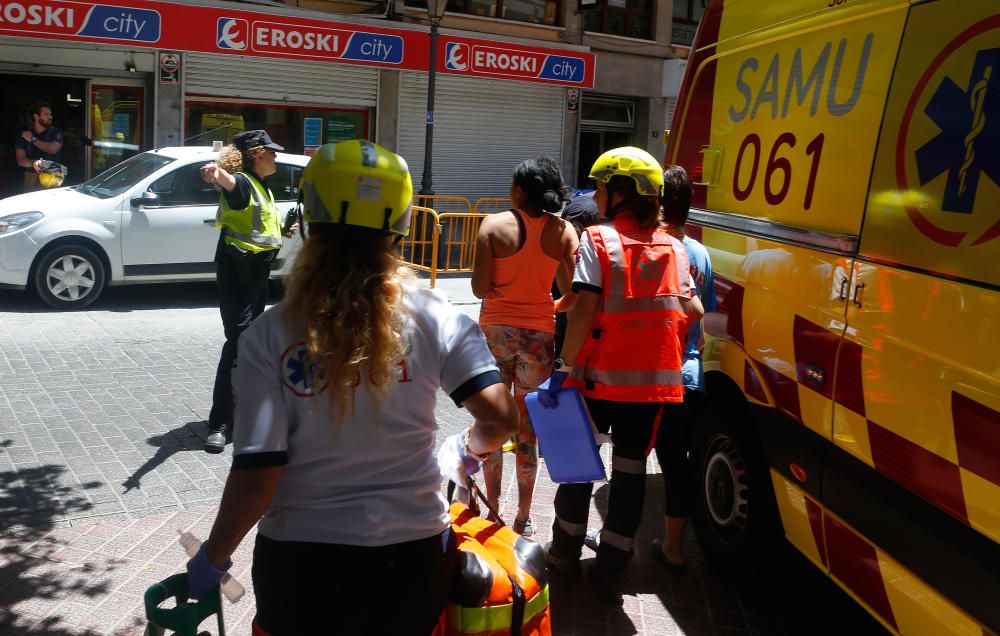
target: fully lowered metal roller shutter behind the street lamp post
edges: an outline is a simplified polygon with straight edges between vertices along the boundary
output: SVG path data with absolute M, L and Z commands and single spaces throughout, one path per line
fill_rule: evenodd
M 509 80 L 438 74 L 434 91 L 435 194 L 505 197 L 518 163 L 562 161 L 563 89 Z M 403 73 L 399 153 L 420 189 L 424 165 L 427 75 Z M 566 175 L 563 175 L 565 178 Z

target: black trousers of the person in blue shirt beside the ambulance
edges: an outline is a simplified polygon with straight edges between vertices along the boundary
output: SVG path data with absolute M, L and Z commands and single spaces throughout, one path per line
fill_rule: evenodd
M 691 466 L 688 445 L 705 400 L 704 393 L 686 389 L 682 404 L 664 404 L 656 435 L 656 459 L 663 470 L 663 511 L 668 517 L 691 516 Z

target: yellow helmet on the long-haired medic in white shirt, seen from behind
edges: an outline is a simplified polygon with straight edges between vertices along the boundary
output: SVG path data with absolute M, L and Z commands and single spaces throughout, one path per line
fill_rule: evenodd
M 370 141 L 324 144 L 299 185 L 308 223 L 343 223 L 406 236 L 413 182 L 406 160 Z

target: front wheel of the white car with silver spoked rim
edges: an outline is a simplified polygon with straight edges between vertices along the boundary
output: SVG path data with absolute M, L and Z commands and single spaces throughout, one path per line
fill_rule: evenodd
M 104 263 L 83 245 L 59 245 L 35 268 L 35 291 L 56 309 L 83 309 L 104 289 Z

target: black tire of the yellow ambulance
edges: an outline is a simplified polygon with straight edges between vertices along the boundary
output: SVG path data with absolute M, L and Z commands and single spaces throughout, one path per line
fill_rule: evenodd
M 710 405 L 691 439 L 692 524 L 705 556 L 738 579 L 770 577 L 787 545 L 770 471 L 749 414 Z

